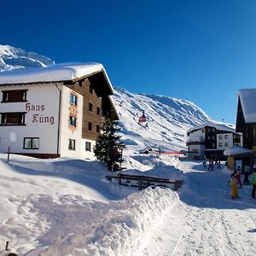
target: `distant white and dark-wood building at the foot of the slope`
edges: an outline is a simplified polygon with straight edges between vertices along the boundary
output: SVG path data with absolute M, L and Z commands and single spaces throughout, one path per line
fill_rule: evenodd
M 199 157 L 224 159 L 224 150 L 241 145 L 241 134 L 232 125 L 207 122 L 187 131 L 188 151 Z

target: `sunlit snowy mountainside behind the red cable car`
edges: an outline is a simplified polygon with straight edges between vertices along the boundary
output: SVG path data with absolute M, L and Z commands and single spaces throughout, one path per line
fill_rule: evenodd
M 119 113 L 120 135 L 130 148 L 185 149 L 186 131 L 211 121 L 194 103 L 167 96 L 140 95 L 114 88 L 113 102 Z M 140 124 L 143 111 L 146 122 Z

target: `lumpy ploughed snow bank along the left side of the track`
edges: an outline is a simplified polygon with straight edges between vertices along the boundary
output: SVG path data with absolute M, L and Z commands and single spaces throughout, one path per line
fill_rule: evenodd
M 51 229 L 39 239 L 49 246 L 27 255 L 136 255 L 150 228 L 177 202 L 177 193 L 148 188 L 109 204 L 79 198 L 69 202 L 70 198 L 56 203 L 45 196 L 30 201 Z

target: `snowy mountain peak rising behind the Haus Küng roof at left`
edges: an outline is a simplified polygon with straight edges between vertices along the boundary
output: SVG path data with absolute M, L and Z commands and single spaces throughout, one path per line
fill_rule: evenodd
M 0 71 L 26 67 L 46 67 L 55 61 L 32 51 L 0 44 Z

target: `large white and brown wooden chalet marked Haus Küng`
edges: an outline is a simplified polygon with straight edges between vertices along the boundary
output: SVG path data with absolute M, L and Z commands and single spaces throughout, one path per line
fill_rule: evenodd
M 0 73 L 0 153 L 91 158 L 107 117 L 118 119 L 102 64 Z

